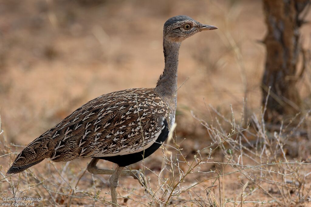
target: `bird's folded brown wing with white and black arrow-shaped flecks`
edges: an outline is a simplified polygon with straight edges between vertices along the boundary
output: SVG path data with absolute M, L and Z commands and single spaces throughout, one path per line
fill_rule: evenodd
M 50 158 L 58 162 L 142 151 L 156 140 L 167 111 L 152 88 L 100 96 L 56 125 Z

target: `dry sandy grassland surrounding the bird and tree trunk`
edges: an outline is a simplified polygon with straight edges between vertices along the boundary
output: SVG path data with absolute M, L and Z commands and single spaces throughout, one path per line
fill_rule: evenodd
M 306 103 L 302 118 L 265 124 L 260 1 L 0 4 L 6 17 L 0 20 L 0 198 L 109 206 L 109 177 L 86 172 L 89 159 L 44 160 L 20 174 L 5 173 L 17 152 L 86 101 L 124 88 L 154 87 L 163 68 L 163 22 L 187 14 L 220 29 L 183 43 L 179 85 L 187 81 L 178 91 L 176 134 L 131 166 L 147 176 L 146 191 L 137 180 L 120 179 L 119 204 L 309 206 L 310 68 L 298 83 Z M 311 30 L 302 30 L 309 48 Z

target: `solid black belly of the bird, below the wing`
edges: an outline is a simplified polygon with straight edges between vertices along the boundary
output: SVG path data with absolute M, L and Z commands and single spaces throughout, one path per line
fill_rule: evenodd
M 150 147 L 145 149 L 145 151 L 140 151 L 128 155 L 116 155 L 116 156 L 111 156 L 111 157 L 98 157 L 99 159 L 102 160 L 108 160 L 110 162 L 118 164 L 120 167 L 124 167 L 133 163 L 136 163 L 144 158 L 148 157 L 152 153 L 154 153 L 162 144 L 160 142 L 164 142 L 169 135 L 169 129 L 168 129 L 168 124 L 167 121 L 164 120 L 164 125 L 165 127 L 161 131 L 159 137 L 156 139 L 156 142 L 153 143 Z M 145 153 L 144 153 L 145 152 Z

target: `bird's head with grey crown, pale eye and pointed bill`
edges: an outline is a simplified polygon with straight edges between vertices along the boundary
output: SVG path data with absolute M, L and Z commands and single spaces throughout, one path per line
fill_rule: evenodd
M 163 28 L 163 35 L 165 39 L 172 42 L 181 42 L 184 39 L 201 32 L 203 30 L 218 29 L 213 25 L 203 25 L 192 18 L 179 15 L 169 18 Z

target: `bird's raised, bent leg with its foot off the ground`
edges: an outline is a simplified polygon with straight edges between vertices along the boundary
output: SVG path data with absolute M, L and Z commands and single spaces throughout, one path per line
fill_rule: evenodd
M 108 170 L 108 169 L 98 169 L 96 164 L 98 162 L 98 158 L 93 158 L 91 162 L 87 165 L 86 170 L 92 174 L 103 174 L 103 175 L 112 175 L 114 174 L 115 170 Z M 147 181 L 142 172 L 139 170 L 122 170 L 122 176 L 132 176 L 134 179 L 137 179 L 142 187 L 147 187 Z

